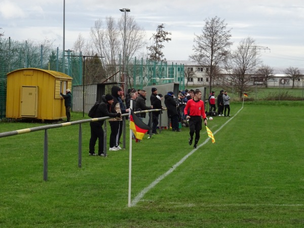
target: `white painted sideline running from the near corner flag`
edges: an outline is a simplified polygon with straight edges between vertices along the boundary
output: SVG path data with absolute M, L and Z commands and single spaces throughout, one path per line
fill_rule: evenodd
M 213 135 L 215 135 L 219 130 L 221 130 L 227 123 L 229 123 L 235 116 L 238 115 L 238 113 L 243 109 L 243 107 L 241 107 L 240 110 L 238 110 L 238 112 L 236 113 L 236 115 L 234 115 L 232 118 L 230 118 L 228 121 L 226 121 L 219 129 L 217 129 Z M 168 176 L 170 173 L 172 173 L 179 165 L 181 165 L 189 156 L 191 156 L 193 153 L 195 153 L 195 151 L 197 149 L 199 149 L 201 146 L 205 145 L 208 141 L 209 141 L 209 137 L 200 145 L 197 146 L 197 148 L 193 149 L 190 151 L 189 154 L 187 154 L 185 157 L 183 157 L 178 163 L 176 163 L 174 166 L 172 166 L 171 169 L 169 169 L 166 173 L 164 173 L 163 175 L 159 176 L 155 181 L 153 181 L 152 183 L 150 183 L 149 186 L 145 187 L 144 189 L 142 189 L 142 191 L 134 198 L 134 200 L 131 202 L 131 207 L 136 206 L 136 204 L 144 197 L 144 195 L 150 191 L 150 189 L 152 189 L 155 185 L 157 185 L 159 182 L 161 182 L 162 179 L 164 179 L 166 176 Z

